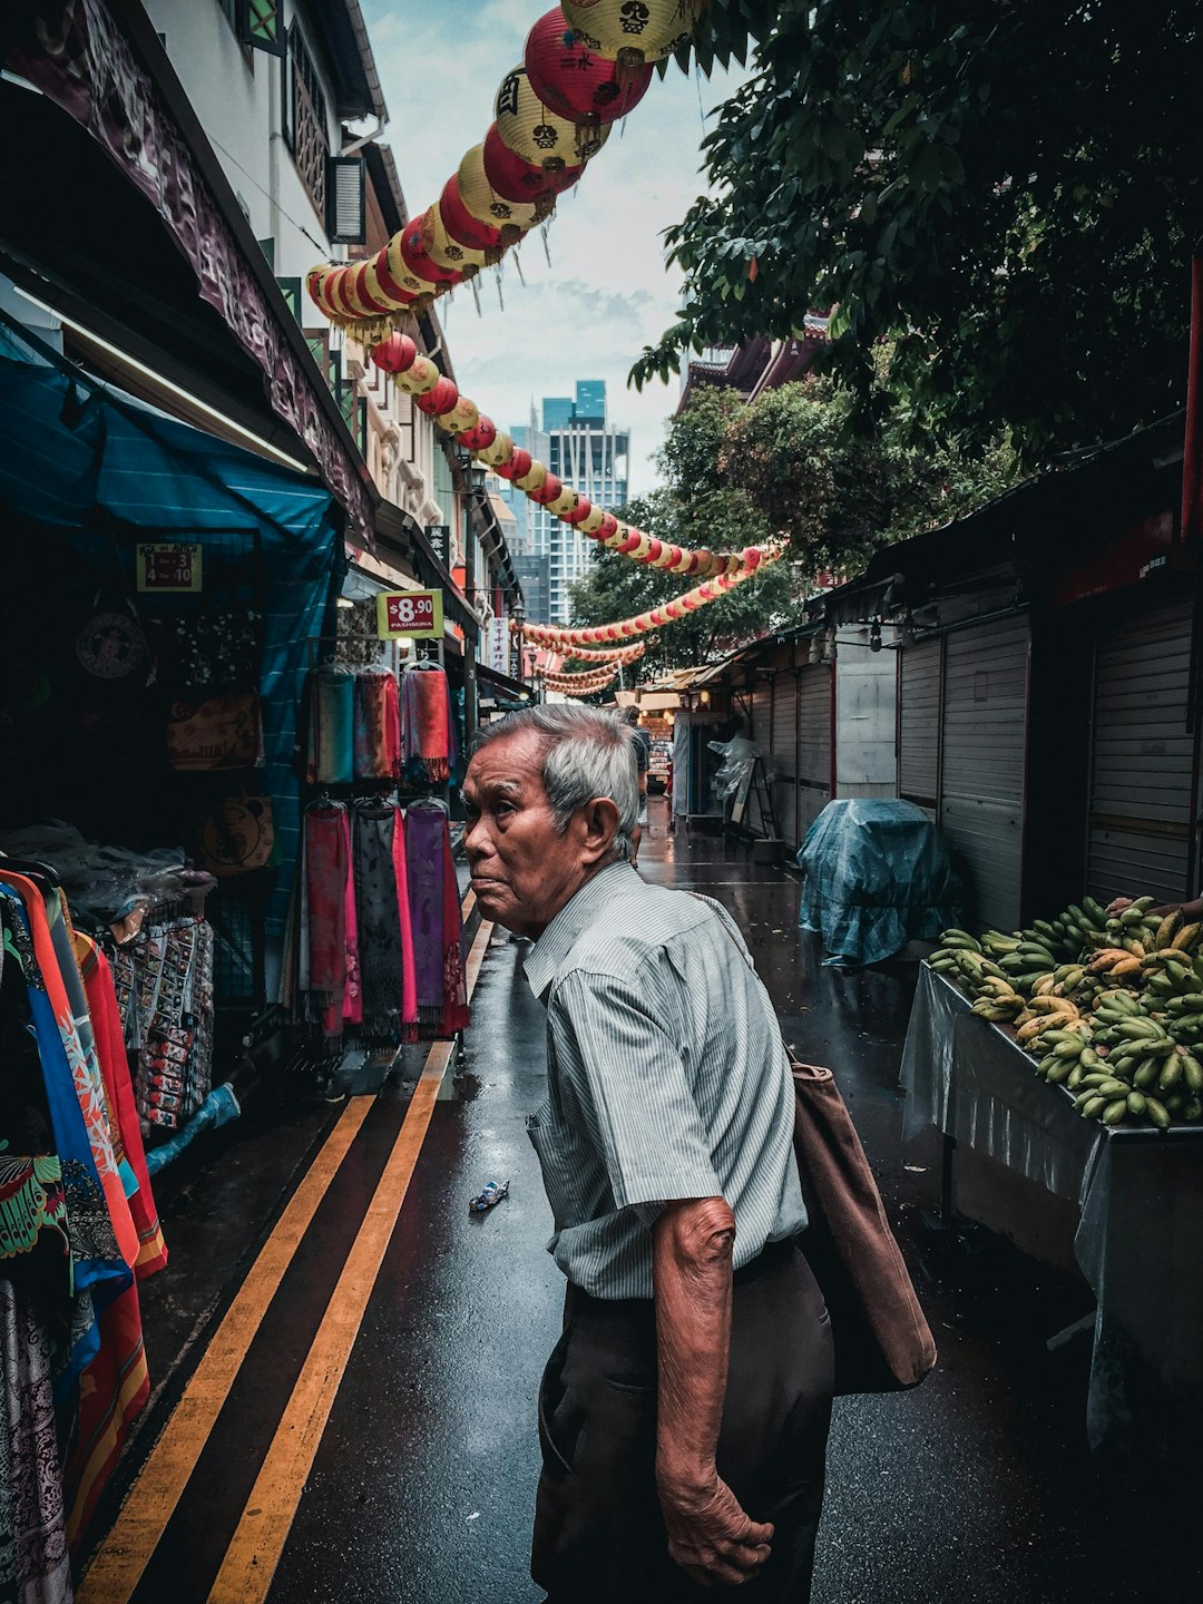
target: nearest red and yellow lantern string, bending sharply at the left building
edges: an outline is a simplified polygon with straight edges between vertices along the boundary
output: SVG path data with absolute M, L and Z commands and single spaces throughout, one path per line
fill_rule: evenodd
M 531 29 L 523 64 L 502 80 L 494 122 L 443 186 L 439 199 L 377 257 L 310 269 L 310 297 L 372 361 L 415 398 L 439 428 L 510 480 L 533 502 L 608 550 L 669 573 L 706 579 L 755 568 L 760 549 L 690 550 L 593 507 L 459 393 L 395 327 L 456 284 L 500 261 L 569 189 L 632 111 L 656 61 L 688 43 L 709 0 L 565 0 Z

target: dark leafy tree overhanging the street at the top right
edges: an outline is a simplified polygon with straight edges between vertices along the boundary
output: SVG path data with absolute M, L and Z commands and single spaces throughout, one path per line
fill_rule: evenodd
M 1035 460 L 1182 403 L 1197 6 L 712 0 L 698 63 L 749 34 L 711 194 L 667 236 L 685 308 L 635 382 L 834 308 L 826 361 L 861 425 L 903 403 L 919 435 L 1007 428 Z

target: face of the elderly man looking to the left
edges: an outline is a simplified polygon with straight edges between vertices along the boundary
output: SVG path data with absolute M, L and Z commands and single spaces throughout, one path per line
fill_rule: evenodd
M 555 828 L 542 781 L 542 743 L 529 731 L 491 741 L 464 780 L 472 889 L 483 917 L 537 937 L 584 884 L 592 863 L 582 828 Z

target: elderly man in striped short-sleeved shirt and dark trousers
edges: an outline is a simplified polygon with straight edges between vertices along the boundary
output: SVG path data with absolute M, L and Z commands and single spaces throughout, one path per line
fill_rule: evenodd
M 781 1033 L 717 903 L 629 866 L 630 731 L 489 725 L 464 783 L 484 917 L 531 937 L 547 1102 L 528 1121 L 568 1278 L 544 1371 L 531 1574 L 553 1604 L 805 1604 L 831 1331 L 799 1248 Z

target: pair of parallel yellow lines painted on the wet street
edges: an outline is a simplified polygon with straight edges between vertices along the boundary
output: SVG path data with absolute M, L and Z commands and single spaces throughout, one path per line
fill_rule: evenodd
M 473 903 L 475 897 L 468 893 L 465 917 Z M 467 966 L 468 998 L 476 990 L 491 935 L 492 926 L 481 924 L 472 945 Z M 436 1041 L 427 1055 L 364 1222 L 226 1549 L 209 1604 L 260 1604 L 268 1596 L 454 1052 L 454 1043 Z M 77 1604 L 127 1604 L 133 1596 L 196 1469 L 263 1315 L 374 1100 L 353 1097 L 348 1102 L 289 1200 L 162 1437 L 138 1472 L 112 1530 L 75 1590 Z

